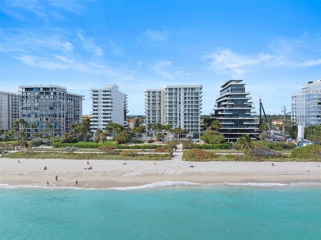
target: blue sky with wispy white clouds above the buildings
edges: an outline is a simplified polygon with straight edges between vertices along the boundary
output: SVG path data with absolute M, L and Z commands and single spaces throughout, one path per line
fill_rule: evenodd
M 83 94 L 116 84 L 129 115 L 144 89 L 243 79 L 259 112 L 290 111 L 291 94 L 321 79 L 320 1 L 1 1 L 1 91 L 59 85 Z

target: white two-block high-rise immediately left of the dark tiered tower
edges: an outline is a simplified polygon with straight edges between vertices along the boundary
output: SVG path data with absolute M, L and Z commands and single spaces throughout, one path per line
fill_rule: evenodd
M 187 130 L 188 136 L 201 135 L 202 85 L 165 86 L 145 89 L 145 124 L 161 123 L 171 129 Z M 176 137 L 175 137 L 176 138 Z

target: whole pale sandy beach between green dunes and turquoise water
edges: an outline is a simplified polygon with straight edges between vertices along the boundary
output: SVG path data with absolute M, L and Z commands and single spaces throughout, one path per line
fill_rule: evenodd
M 0 183 L 47 185 L 49 181 L 50 186 L 55 187 L 109 188 L 158 181 L 204 184 L 321 182 L 320 162 L 275 162 L 272 166 L 272 162 L 189 162 L 181 159 L 182 152 L 175 152 L 171 160 L 164 161 L 89 160 L 89 164 L 87 160 L 0 158 Z M 88 169 L 90 166 L 92 169 Z

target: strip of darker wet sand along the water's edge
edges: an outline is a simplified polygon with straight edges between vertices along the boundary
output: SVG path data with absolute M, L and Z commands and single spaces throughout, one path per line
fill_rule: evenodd
M 8 184 L 10 186 L 26 186 L 37 185 L 46 187 L 48 177 L 30 177 L 30 176 L 1 176 L 1 184 Z M 71 179 L 58 179 L 58 181 L 50 181 L 50 187 L 77 187 L 87 189 L 105 189 L 105 188 L 117 188 L 117 187 L 134 187 L 143 186 L 147 184 L 157 182 L 190 182 L 196 184 L 221 184 L 221 183 L 275 183 L 275 184 L 291 184 L 299 182 L 313 182 L 320 183 L 317 187 L 321 187 L 321 180 L 319 175 L 215 175 L 215 176 L 95 176 L 91 178 L 78 179 L 78 185 L 76 186 L 75 180 Z

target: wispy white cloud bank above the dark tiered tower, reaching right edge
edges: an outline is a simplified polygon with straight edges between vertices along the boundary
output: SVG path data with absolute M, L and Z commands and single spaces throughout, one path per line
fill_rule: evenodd
M 269 52 L 256 55 L 235 53 L 230 49 L 217 49 L 202 57 L 216 74 L 230 74 L 238 78 L 258 68 L 308 68 L 321 65 L 320 37 L 304 35 L 297 39 L 275 39 Z

